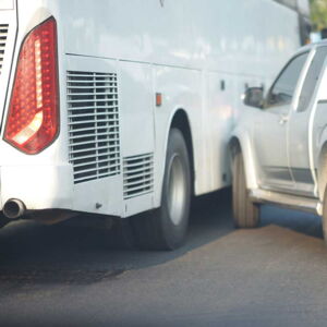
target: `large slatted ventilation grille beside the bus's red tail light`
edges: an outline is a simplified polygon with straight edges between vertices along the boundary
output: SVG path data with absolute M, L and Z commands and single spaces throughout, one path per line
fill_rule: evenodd
M 117 74 L 68 72 L 66 81 L 74 183 L 119 174 Z

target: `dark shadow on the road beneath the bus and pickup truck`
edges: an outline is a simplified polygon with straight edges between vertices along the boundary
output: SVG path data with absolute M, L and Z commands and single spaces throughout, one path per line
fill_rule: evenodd
M 197 198 L 191 213 L 187 242 L 174 252 L 123 251 L 119 244 L 112 243 L 114 235 L 110 231 L 98 229 L 64 223 L 52 227 L 35 222 L 12 223 L 0 231 L 0 296 L 5 295 L 5 290 L 12 292 L 26 284 L 89 284 L 105 279 L 114 280 L 126 270 L 173 262 L 204 251 L 206 246 L 219 249 L 234 234 L 264 238 L 270 225 L 281 228 L 268 232 L 269 238 L 291 229 L 292 233 L 300 233 L 300 239 L 322 239 L 318 217 L 271 206 L 263 207 L 259 229 L 235 231 L 231 219 L 230 190 Z M 271 242 L 270 246 L 276 245 Z M 234 249 L 238 251 L 237 243 Z M 314 251 L 314 246 L 310 251 Z M 210 252 L 210 255 L 215 253 Z

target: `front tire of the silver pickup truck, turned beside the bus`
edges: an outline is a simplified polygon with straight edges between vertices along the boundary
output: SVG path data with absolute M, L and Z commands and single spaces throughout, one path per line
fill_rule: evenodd
M 232 166 L 232 209 L 235 228 L 255 228 L 259 225 L 259 205 L 249 197 L 244 161 L 241 152 L 233 158 Z

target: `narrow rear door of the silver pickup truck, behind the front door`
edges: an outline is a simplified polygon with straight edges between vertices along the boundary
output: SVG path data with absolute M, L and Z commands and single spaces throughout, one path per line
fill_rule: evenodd
M 327 47 L 319 47 L 310 63 L 298 106 L 291 111 L 288 125 L 290 169 L 299 194 L 314 194 L 314 179 L 310 162 L 310 118 L 313 109 L 314 94 L 327 56 Z

